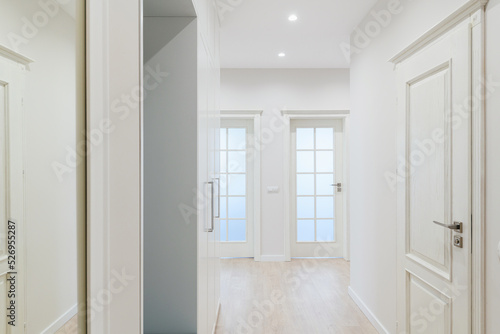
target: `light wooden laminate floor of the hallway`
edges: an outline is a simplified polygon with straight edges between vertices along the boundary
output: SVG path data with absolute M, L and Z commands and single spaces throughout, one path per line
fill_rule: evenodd
M 222 260 L 217 334 L 376 334 L 347 293 L 343 259 Z

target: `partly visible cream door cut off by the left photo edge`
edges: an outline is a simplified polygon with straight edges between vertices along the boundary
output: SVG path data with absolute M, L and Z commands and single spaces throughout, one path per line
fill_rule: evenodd
M 24 333 L 24 66 L 0 56 L 0 333 Z

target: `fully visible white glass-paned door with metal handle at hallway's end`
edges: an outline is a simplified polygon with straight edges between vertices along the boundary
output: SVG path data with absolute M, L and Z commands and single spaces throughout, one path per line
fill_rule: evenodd
M 291 152 L 291 256 L 342 257 L 342 121 L 292 120 Z

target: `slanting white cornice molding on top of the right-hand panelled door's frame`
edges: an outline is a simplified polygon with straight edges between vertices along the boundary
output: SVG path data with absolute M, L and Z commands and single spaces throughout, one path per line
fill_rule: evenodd
M 429 45 L 431 42 L 438 39 L 445 32 L 455 27 L 458 23 L 462 22 L 467 17 L 470 17 L 479 9 L 484 9 L 488 1 L 489 0 L 470 0 L 465 5 L 456 10 L 453 14 L 451 14 L 446 19 L 444 19 L 443 21 L 435 25 L 433 28 L 431 28 L 429 31 L 424 33 L 415 42 L 413 42 L 404 50 L 402 50 L 393 58 L 391 58 L 389 62 L 394 64 L 399 64 L 405 61 L 411 55 L 415 54 L 425 46 Z

